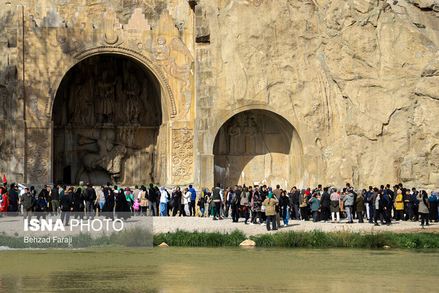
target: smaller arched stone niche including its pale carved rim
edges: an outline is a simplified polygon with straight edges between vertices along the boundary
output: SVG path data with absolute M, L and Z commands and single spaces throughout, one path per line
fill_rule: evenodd
M 214 182 L 281 185 L 302 178 L 303 148 L 293 124 L 265 105 L 235 109 L 213 130 Z M 224 121 L 224 122 L 223 122 Z

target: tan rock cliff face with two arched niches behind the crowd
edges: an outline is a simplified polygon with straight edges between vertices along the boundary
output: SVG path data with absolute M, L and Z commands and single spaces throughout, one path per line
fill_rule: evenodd
M 84 147 L 86 139 L 82 152 L 78 142 L 57 144 L 62 122 L 52 112 L 66 89 L 62 78 L 94 52 L 145 67 L 161 119 L 153 134 L 127 137 L 117 129 L 128 122 L 98 124 L 99 131 L 116 130 L 106 139 L 106 159 L 84 166 L 92 173 L 115 173 L 117 142 L 128 145 L 119 163 L 129 176 L 114 180 L 127 184 L 439 185 L 437 1 L 85 2 L 38 1 L 16 10 L 28 1 L 8 1 L 0 12 L 0 172 L 8 179 L 50 183 L 59 180 L 56 163 L 67 165 L 53 154 L 99 154 L 100 147 Z M 98 87 L 104 79 L 93 72 L 84 82 Z M 116 120 L 132 115 L 146 127 L 123 108 L 130 93 L 141 95 L 129 89 L 129 76 L 114 84 L 126 113 Z M 73 116 L 78 133 L 82 117 Z M 144 137 L 139 151 L 127 143 L 134 135 Z M 151 159 L 150 174 L 134 174 L 137 157 Z

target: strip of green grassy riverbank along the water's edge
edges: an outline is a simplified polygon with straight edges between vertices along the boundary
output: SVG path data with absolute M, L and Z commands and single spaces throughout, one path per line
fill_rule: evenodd
M 93 237 L 90 233 L 80 233 L 71 236 L 71 239 L 71 244 L 28 244 L 24 242 L 24 236 L 1 233 L 0 246 L 8 248 L 152 247 L 165 242 L 169 246 L 215 247 L 239 246 L 244 240 L 250 239 L 260 247 L 439 248 L 438 233 L 359 233 L 350 230 L 285 231 L 248 237 L 239 230 L 231 233 L 176 231 L 152 235 L 145 228 L 135 226 L 110 235 L 102 234 Z

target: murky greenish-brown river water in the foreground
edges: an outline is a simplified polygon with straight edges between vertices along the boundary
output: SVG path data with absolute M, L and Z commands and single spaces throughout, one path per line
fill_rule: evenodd
M 0 251 L 0 292 L 438 292 L 438 250 Z

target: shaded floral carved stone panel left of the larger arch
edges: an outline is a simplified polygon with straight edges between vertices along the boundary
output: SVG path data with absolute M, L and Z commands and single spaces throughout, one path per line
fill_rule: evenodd
M 47 130 L 27 129 L 27 181 L 47 182 L 49 174 L 49 136 Z

